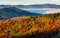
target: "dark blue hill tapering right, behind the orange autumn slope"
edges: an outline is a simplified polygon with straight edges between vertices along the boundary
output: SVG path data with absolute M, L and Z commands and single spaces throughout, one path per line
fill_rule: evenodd
M 35 16 L 39 14 L 30 13 L 28 11 L 21 10 L 12 6 L 0 9 L 0 16 L 4 16 L 6 18 L 18 17 L 18 16 L 33 16 L 33 15 Z

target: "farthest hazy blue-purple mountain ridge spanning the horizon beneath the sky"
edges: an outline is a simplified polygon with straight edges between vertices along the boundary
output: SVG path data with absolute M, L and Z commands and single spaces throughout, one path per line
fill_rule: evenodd
M 8 7 L 19 7 L 19 8 L 60 8 L 60 5 L 57 4 L 33 4 L 33 5 L 0 5 L 1 8 L 8 8 Z

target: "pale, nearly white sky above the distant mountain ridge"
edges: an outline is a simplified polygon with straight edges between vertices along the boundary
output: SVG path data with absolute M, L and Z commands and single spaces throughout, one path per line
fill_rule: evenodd
M 0 5 L 31 5 L 47 3 L 60 5 L 60 0 L 0 0 Z

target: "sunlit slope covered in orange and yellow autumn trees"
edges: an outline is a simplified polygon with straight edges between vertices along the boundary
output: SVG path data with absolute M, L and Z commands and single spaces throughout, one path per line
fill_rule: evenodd
M 31 35 L 36 31 L 47 33 L 57 29 L 60 29 L 60 13 L 0 20 L 0 36 Z

